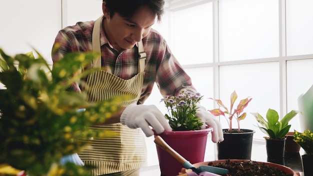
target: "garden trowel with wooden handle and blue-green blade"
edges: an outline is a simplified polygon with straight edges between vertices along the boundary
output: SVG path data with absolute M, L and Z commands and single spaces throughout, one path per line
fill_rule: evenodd
M 196 174 L 202 173 L 202 175 L 209 175 L 203 174 L 203 172 L 210 172 L 210 173 L 228 173 L 228 169 L 214 167 L 210 165 L 201 165 L 198 168 L 195 168 L 189 161 L 187 161 L 184 157 L 182 157 L 179 153 L 177 153 L 174 149 L 172 149 L 159 135 L 155 136 L 154 143 L 160 146 L 162 149 L 167 151 L 171 156 L 173 156 L 184 168 L 191 169 Z M 189 175 L 189 174 L 185 174 Z M 210 174 L 213 175 L 213 174 Z

